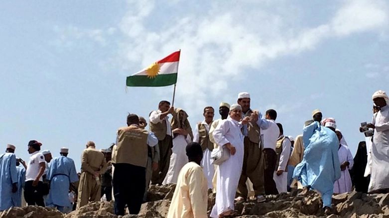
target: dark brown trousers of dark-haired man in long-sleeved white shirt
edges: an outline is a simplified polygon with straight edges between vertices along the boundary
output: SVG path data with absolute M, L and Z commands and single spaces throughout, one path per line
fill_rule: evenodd
M 278 190 L 273 179 L 275 165 L 277 162 L 277 154 L 271 148 L 264 148 L 263 156 L 264 156 L 264 163 L 265 163 L 264 166 L 265 193 L 266 195 L 277 195 Z

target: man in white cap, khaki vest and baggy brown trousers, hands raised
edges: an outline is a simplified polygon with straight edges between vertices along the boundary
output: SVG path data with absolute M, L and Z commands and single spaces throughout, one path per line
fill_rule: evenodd
M 244 139 L 244 158 L 241 178 L 238 184 L 238 193 L 240 197 L 236 200 L 242 201 L 247 199 L 247 179 L 249 178 L 253 183 L 257 202 L 266 201 L 264 197 L 264 161 L 262 154 L 262 145 L 260 137 L 260 129 L 267 129 L 269 122 L 262 118 L 258 111 L 250 109 L 250 94 L 241 92 L 238 94 L 238 104 L 242 106 L 242 118 L 250 117 L 249 124 L 243 125 L 242 134 Z

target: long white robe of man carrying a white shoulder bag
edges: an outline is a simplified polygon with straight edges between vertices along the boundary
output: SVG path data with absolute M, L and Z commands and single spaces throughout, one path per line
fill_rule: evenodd
M 235 146 L 236 153 L 219 165 L 216 202 L 211 212 L 212 218 L 217 218 L 220 214 L 235 209 L 234 199 L 242 173 L 244 154 L 241 127 L 238 121 L 228 117 L 218 125 L 213 133 L 215 142 L 219 146 L 231 143 Z

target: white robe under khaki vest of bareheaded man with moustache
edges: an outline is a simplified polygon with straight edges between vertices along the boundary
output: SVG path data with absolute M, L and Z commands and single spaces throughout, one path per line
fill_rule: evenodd
M 208 125 L 205 121 L 203 121 L 201 124 L 204 124 L 205 129 L 207 130 L 207 132 L 209 132 L 211 126 Z M 196 130 L 193 134 L 193 142 L 200 142 L 199 130 L 197 128 L 197 125 Z M 207 177 L 208 181 L 208 189 L 213 189 L 212 179 L 215 174 L 215 166 L 211 162 L 211 152 L 212 150 L 206 148 L 203 152 L 203 159 L 201 160 L 201 166 L 203 167 L 204 175 L 205 177 Z

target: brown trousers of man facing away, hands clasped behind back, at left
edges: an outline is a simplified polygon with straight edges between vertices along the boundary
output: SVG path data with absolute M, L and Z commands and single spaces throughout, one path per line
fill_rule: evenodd
M 100 201 L 101 185 L 89 172 L 82 172 L 78 186 L 77 209 L 87 205 L 90 201 Z

